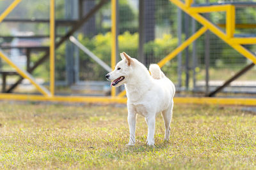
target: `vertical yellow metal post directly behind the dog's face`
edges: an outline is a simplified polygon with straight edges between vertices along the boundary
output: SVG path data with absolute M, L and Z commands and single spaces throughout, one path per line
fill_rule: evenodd
M 111 0 L 111 68 L 116 66 L 116 0 Z M 115 87 L 111 88 L 111 96 L 116 96 Z

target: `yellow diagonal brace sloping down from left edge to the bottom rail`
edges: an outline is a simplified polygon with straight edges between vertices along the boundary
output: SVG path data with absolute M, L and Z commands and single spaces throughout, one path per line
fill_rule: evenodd
M 38 83 L 36 83 L 36 81 L 34 80 L 34 78 L 31 76 L 31 74 L 29 74 L 27 71 L 23 71 L 22 69 L 20 69 L 20 67 L 18 67 L 16 64 L 14 64 L 12 62 L 12 60 L 10 60 L 6 55 L 4 55 L 3 52 L 0 51 L 0 57 L 5 60 L 10 66 L 12 66 L 17 73 L 20 74 L 20 76 L 27 78 L 33 85 L 35 85 L 36 89 L 38 89 L 42 94 L 44 94 L 44 96 L 50 96 L 50 92 L 45 89 L 45 87 L 43 87 L 42 85 L 39 85 Z

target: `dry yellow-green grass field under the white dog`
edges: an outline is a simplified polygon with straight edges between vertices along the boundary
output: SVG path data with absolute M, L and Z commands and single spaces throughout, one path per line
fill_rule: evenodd
M 240 109 L 176 104 L 170 141 L 159 115 L 153 148 L 140 116 L 125 146 L 124 107 L 2 102 L 0 169 L 256 169 L 256 115 Z

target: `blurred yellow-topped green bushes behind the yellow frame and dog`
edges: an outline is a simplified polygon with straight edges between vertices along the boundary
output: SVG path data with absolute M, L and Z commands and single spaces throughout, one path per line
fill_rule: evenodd
M 119 52 L 127 52 L 132 57 L 137 57 L 138 54 L 138 32 L 131 34 L 130 32 L 124 32 L 118 36 Z M 79 34 L 77 39 L 93 52 L 97 57 L 111 65 L 111 32 L 106 34 L 98 34 L 92 39 L 85 37 L 83 34 Z M 154 41 L 150 41 L 145 44 L 145 54 L 152 55 L 155 60 L 160 60 L 168 53 L 172 52 L 173 48 L 177 46 L 177 38 L 173 38 L 170 34 L 165 34 L 163 38 L 157 38 Z M 80 57 L 80 78 L 81 80 L 104 80 L 104 74 L 106 71 L 102 69 L 94 60 L 86 55 L 81 50 L 79 51 Z M 36 60 L 36 59 L 35 59 Z M 34 60 L 33 60 L 34 61 Z M 61 45 L 56 51 L 56 79 L 65 80 L 65 45 Z M 170 64 L 169 64 L 170 65 Z M 175 70 L 177 64 L 166 67 L 164 71 L 170 73 Z M 172 69 L 170 69 L 172 67 Z M 42 71 L 44 69 L 45 71 Z M 49 63 L 45 63 L 40 69 L 35 71 L 35 76 L 41 76 L 44 74 L 44 78 L 48 80 Z M 172 72 L 173 73 L 173 72 Z

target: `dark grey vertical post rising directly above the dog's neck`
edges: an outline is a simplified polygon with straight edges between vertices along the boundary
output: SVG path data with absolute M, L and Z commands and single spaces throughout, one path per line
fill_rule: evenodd
M 139 55 L 138 60 L 145 64 L 144 56 L 144 42 L 145 42 L 145 32 L 144 32 L 144 0 L 139 1 Z

